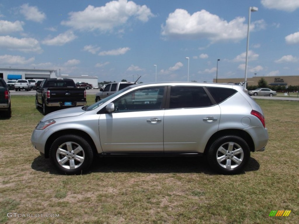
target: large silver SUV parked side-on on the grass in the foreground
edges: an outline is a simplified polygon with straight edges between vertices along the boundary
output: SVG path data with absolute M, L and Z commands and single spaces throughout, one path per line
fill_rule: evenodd
M 205 156 L 222 174 L 242 171 L 268 141 L 260 106 L 242 86 L 154 83 L 91 106 L 46 115 L 31 142 L 58 171 L 80 174 L 105 156 Z

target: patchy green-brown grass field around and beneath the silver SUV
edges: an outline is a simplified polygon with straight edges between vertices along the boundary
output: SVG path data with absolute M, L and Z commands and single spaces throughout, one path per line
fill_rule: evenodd
M 203 158 L 102 158 L 66 176 L 31 145 L 42 118 L 34 101 L 12 96 L 12 117 L 0 118 L 0 223 L 298 223 L 299 102 L 256 100 L 270 139 L 239 175 Z

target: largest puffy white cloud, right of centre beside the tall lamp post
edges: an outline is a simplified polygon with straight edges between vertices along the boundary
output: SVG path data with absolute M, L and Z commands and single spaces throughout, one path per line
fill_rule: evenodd
M 170 13 L 165 26 L 162 24 L 162 36 L 170 38 L 209 39 L 211 42 L 221 40 L 239 41 L 247 36 L 245 17 L 237 17 L 227 22 L 206 10 L 190 15 L 184 9 Z M 263 29 L 265 21 L 251 23 L 250 29 Z

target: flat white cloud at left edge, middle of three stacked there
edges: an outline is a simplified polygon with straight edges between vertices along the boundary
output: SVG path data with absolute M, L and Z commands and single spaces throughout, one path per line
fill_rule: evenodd
M 0 48 L 23 52 L 42 52 L 39 42 L 33 38 L 18 39 L 11 36 L 0 36 Z

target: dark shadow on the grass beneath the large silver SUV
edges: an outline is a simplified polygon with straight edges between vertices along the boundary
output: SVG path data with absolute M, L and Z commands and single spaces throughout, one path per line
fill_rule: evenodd
M 36 157 L 31 165 L 36 171 L 50 174 L 60 174 L 53 167 L 50 159 L 42 156 Z M 248 165 L 241 174 L 257 171 L 260 164 L 256 159 L 250 158 Z M 204 157 L 105 157 L 94 159 L 88 173 L 204 173 L 219 175 L 213 171 Z M 85 173 L 86 174 L 86 173 Z

